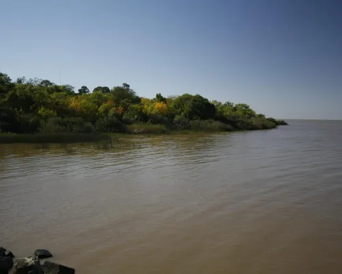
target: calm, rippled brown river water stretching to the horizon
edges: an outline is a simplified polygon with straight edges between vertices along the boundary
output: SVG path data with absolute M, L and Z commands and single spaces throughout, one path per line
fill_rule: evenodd
M 340 273 L 342 123 L 0 145 L 1 245 L 78 273 Z

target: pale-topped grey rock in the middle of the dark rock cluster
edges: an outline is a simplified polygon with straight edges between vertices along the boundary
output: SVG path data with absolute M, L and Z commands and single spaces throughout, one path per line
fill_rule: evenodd
M 9 274 L 42 274 L 42 268 L 37 256 L 14 259 L 13 267 Z

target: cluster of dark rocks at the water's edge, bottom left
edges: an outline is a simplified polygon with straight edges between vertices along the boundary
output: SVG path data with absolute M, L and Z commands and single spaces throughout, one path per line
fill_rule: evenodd
M 75 269 L 55 262 L 40 259 L 50 258 L 52 254 L 46 249 L 37 249 L 33 256 L 15 258 L 11 251 L 0 247 L 0 274 L 74 274 Z

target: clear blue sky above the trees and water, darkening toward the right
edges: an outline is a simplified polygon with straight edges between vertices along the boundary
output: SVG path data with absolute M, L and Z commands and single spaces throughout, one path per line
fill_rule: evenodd
M 0 0 L 0 71 L 342 119 L 341 0 Z

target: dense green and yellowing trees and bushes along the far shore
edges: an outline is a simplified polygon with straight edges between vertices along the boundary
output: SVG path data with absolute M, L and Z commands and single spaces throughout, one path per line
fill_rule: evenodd
M 284 121 L 265 118 L 245 103 L 220 103 L 200 95 L 139 97 L 129 84 L 56 85 L 46 79 L 0 73 L 0 129 L 17 134 L 95 132 L 153 133 L 172 129 L 233 131 L 271 129 Z

